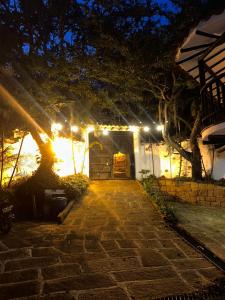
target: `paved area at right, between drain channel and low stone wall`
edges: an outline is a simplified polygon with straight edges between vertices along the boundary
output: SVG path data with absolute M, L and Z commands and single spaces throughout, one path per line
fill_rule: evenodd
M 225 261 L 225 208 L 173 203 L 179 225 Z

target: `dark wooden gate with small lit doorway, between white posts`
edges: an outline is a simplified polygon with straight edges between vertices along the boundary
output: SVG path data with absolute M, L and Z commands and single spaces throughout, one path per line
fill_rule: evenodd
M 110 131 L 89 134 L 91 179 L 134 179 L 133 132 Z

